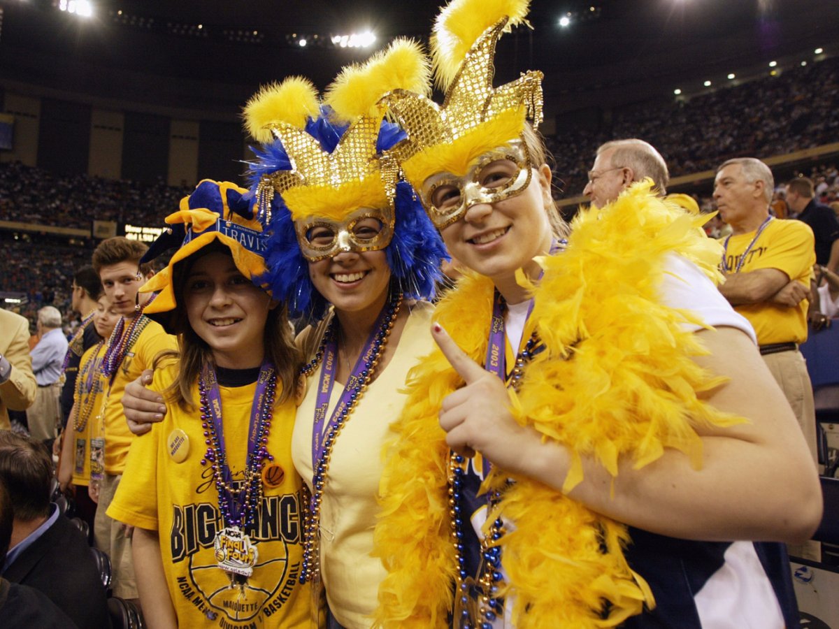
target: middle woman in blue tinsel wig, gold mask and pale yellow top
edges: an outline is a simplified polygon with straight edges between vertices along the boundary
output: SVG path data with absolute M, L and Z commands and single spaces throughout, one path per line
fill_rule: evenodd
M 425 89 L 429 73 L 419 46 L 397 40 L 343 70 L 322 101 L 310 81 L 290 77 L 244 112 L 261 143 L 253 203 L 271 232 L 257 281 L 307 325 L 292 437 L 308 488 L 300 580 L 313 585 L 315 610 L 326 589 L 331 627 L 370 626 L 384 577 L 371 554 L 384 443 L 409 368 L 433 346 L 428 299 L 446 249 L 399 180 L 393 153 L 404 133 L 383 122 L 379 103 L 393 90 Z M 138 412 L 154 408 L 143 405 L 153 397 L 129 387 L 129 420 L 154 421 Z

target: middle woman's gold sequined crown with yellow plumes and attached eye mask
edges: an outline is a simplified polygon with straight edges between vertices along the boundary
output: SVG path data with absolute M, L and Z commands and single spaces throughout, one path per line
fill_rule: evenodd
M 310 260 L 327 257 L 335 247 L 313 247 L 306 234 L 320 224 L 341 223 L 336 233 L 352 240 L 352 221 L 372 215 L 382 222 L 375 243 L 357 250 L 387 246 L 393 235 L 394 196 L 399 165 L 377 143 L 386 105 L 384 94 L 393 90 L 425 92 L 429 63 L 420 45 L 397 39 L 388 49 L 373 55 L 363 65 L 352 65 L 326 89 L 322 103 L 315 86 L 302 77 L 289 77 L 266 86 L 248 101 L 244 110 L 249 133 L 267 152 L 259 160 L 256 185 L 258 206 L 267 209 L 275 194 L 282 195 L 298 232 L 300 247 Z M 326 106 L 329 122 L 347 125 L 336 146 L 325 148 L 308 126 L 317 122 L 320 105 Z M 274 147 L 279 140 L 281 148 Z M 287 158 L 274 160 L 274 150 Z M 349 226 L 349 229 L 347 229 Z M 349 243 L 352 245 L 352 243 Z M 344 246 L 347 243 L 343 243 Z M 349 245 L 347 245 L 349 246 Z

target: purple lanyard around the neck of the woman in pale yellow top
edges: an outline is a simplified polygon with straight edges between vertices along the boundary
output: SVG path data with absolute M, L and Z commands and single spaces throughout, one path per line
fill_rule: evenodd
M 367 337 L 367 343 L 358 356 L 356 365 L 352 367 L 352 373 L 347 378 L 347 386 L 344 387 L 344 392 L 341 393 L 341 398 L 332 411 L 332 416 L 329 424 L 326 425 L 326 411 L 329 408 L 329 400 L 332 395 L 332 387 L 335 385 L 335 373 L 337 371 L 337 356 L 338 356 L 338 342 L 337 335 L 333 331 L 331 338 L 326 341 L 326 346 L 323 348 L 323 368 L 320 370 L 320 383 L 317 389 L 317 399 L 315 401 L 315 424 L 312 426 L 312 469 L 317 471 L 318 465 L 326 455 L 326 435 L 331 434 L 336 426 L 339 424 L 339 419 L 343 416 L 344 408 L 358 397 L 356 387 L 367 378 L 368 363 L 373 358 L 378 347 L 376 346 L 376 336 L 378 331 L 382 329 L 385 318 L 388 316 L 388 304 L 384 304 L 382 311 L 378 314 L 376 324 L 373 325 L 373 330 Z M 331 326 L 335 330 L 335 326 Z

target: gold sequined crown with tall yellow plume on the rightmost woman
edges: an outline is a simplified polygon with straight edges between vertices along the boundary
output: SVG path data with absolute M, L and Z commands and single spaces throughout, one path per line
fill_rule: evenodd
M 479 156 L 519 138 L 528 119 L 534 126 L 542 121 L 541 72 L 492 87 L 498 38 L 512 26 L 529 25 L 528 8 L 529 0 L 452 0 L 431 37 L 435 79 L 446 93 L 442 107 L 408 91 L 385 97 L 408 133 L 399 159 L 416 190 L 431 174 L 466 174 Z

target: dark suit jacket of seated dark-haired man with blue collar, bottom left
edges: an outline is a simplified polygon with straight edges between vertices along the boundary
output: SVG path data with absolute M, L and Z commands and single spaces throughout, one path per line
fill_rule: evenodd
M 111 626 L 107 593 L 91 547 L 63 515 L 8 566 L 3 577 L 44 592 L 79 629 Z

